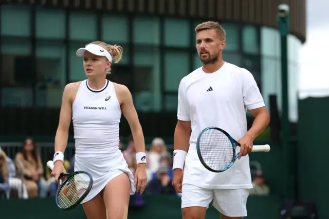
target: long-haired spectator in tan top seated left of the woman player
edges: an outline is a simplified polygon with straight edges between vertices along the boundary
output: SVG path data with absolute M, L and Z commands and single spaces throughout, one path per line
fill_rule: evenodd
M 41 158 L 36 151 L 36 146 L 32 138 L 26 138 L 22 152 L 16 154 L 15 163 L 17 170 L 24 173 L 24 183 L 27 193 L 30 197 L 46 197 L 48 194 L 48 185 L 43 176 L 44 169 Z M 21 165 L 23 165 L 23 170 Z

